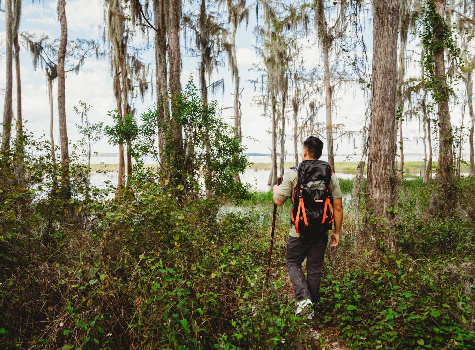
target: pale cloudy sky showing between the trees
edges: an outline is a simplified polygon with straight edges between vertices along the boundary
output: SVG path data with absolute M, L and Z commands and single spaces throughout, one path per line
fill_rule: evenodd
M 47 34 L 50 38 L 59 37 L 59 23 L 56 15 L 57 1 L 44 0 L 42 3 L 33 5 L 32 1 L 23 1 L 23 15 L 20 23 L 20 31 L 28 31 L 36 33 L 38 36 Z M 2 1 L 2 8 L 4 1 Z M 66 15 L 68 22 L 69 39 L 86 38 L 95 39 L 102 42 L 103 25 L 104 25 L 104 6 L 103 0 L 68 0 L 66 4 Z M 364 39 L 368 46 L 369 61 L 372 55 L 372 23 L 371 13 L 368 13 L 368 22 L 365 26 Z M 270 118 L 263 116 L 263 108 L 253 103 L 253 97 L 256 95 L 253 84 L 249 81 L 255 79 L 258 73 L 252 69 L 254 65 L 261 64 L 261 60 L 255 53 L 255 36 L 253 33 L 256 25 L 255 9 L 251 10 L 249 16 L 249 25 L 241 25 L 237 32 L 237 61 L 241 77 L 241 87 L 243 88 L 241 96 L 242 109 L 242 133 L 243 144 L 248 153 L 270 153 Z M 5 88 L 5 15 L 0 12 L 0 113 L 3 115 L 4 104 L 4 88 Z M 311 68 L 320 64 L 319 49 L 316 37 L 299 39 L 305 48 L 302 52 L 301 59 L 304 60 L 305 67 Z M 417 42 L 409 43 L 408 50 L 417 49 Z M 153 63 L 154 53 L 151 49 L 145 56 L 150 63 Z M 26 120 L 25 127 L 33 132 L 36 136 L 48 134 L 49 130 L 49 105 L 47 95 L 47 84 L 43 71 L 38 68 L 33 69 L 31 56 L 29 52 L 22 46 L 21 50 L 21 78 L 22 78 L 22 97 L 23 97 L 23 119 Z M 211 81 L 224 79 L 225 91 L 221 94 L 219 91 L 213 99 L 219 102 L 220 108 L 232 107 L 233 105 L 233 82 L 231 72 L 227 66 L 227 57 L 224 57 L 224 66 L 216 71 Z M 153 66 L 153 64 L 152 64 Z M 182 49 L 182 75 L 181 81 L 184 86 L 190 76 L 197 81 L 198 62 L 191 55 Z M 407 67 L 408 75 L 418 74 L 418 69 L 411 63 Z M 153 77 L 154 79 L 154 77 Z M 15 84 L 14 84 L 15 85 Z M 463 87 L 463 86 L 462 86 Z M 462 88 L 461 87 L 461 88 Z M 15 91 L 15 87 L 13 87 Z M 59 131 L 57 122 L 57 84 L 54 83 L 54 113 L 55 113 L 55 129 L 54 135 L 58 144 Z M 461 89 L 457 89 L 457 94 L 461 94 Z M 134 107 L 137 113 L 146 112 L 154 106 L 154 96 L 151 89 L 144 97 L 143 102 L 140 98 L 134 101 Z M 13 98 L 16 99 L 15 92 Z M 324 95 L 319 95 L 320 101 L 324 100 Z M 74 72 L 68 73 L 66 76 L 66 114 L 67 114 L 67 130 L 69 140 L 76 142 L 81 136 L 77 132 L 76 124 L 80 122 L 79 117 L 74 113 L 73 107 L 79 104 L 79 101 L 85 101 L 92 106 L 89 112 L 89 120 L 91 122 L 102 121 L 104 124 L 111 124 L 111 118 L 107 112 L 115 108 L 115 101 L 112 93 L 112 77 L 110 72 L 110 64 L 108 58 L 95 59 L 95 57 L 86 60 L 79 74 Z M 348 140 L 341 138 L 338 144 L 335 144 L 337 155 L 353 154 L 352 160 L 359 159 L 360 152 L 360 130 L 363 126 L 364 113 L 366 111 L 366 103 L 363 91 L 360 85 L 351 84 L 339 89 L 335 96 L 336 107 L 333 111 L 333 123 L 343 124 L 344 129 L 354 131 L 355 139 Z M 307 101 L 309 102 L 309 101 Z M 13 102 L 15 106 L 15 101 Z M 288 153 L 293 151 L 293 125 L 291 119 L 291 106 L 287 115 L 287 134 L 286 147 Z M 304 113 L 304 111 L 302 111 Z M 318 112 L 318 121 L 324 121 L 324 108 L 320 108 Z M 461 124 L 460 105 L 451 104 L 452 123 L 454 125 Z M 233 125 L 232 109 L 225 109 L 222 112 L 223 118 Z M 465 116 L 465 123 L 468 117 Z M 417 121 L 407 121 L 403 125 L 405 153 L 411 153 L 409 160 L 423 159 L 423 143 L 421 141 L 422 134 L 419 132 Z M 94 144 L 93 151 L 98 153 L 116 153 L 116 147 L 108 144 L 104 138 Z M 465 147 L 464 153 L 468 152 L 468 146 Z M 325 152 L 324 152 L 325 153 Z

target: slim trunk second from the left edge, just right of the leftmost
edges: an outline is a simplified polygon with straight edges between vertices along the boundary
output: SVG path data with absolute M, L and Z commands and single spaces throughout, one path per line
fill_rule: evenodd
M 16 71 L 16 154 L 18 165 L 18 178 L 24 180 L 24 136 L 23 136 L 23 114 L 21 101 L 21 72 L 20 72 L 20 44 L 18 33 L 15 33 L 15 71 Z

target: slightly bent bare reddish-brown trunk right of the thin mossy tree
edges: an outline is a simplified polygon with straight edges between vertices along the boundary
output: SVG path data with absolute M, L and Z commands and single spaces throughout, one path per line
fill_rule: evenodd
M 66 20 L 66 0 L 58 0 L 57 13 L 61 25 L 61 39 L 59 41 L 58 62 L 57 62 L 57 105 L 59 114 L 59 141 L 61 146 L 61 162 L 66 185 L 69 177 L 69 142 L 67 139 L 66 125 L 66 87 L 64 63 L 67 49 L 67 20 Z

